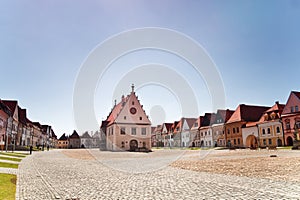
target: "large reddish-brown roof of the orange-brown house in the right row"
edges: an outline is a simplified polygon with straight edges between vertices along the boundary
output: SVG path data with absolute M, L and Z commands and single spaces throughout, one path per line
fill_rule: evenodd
M 270 109 L 270 107 L 240 104 L 227 123 L 258 121 L 261 115 L 268 109 Z

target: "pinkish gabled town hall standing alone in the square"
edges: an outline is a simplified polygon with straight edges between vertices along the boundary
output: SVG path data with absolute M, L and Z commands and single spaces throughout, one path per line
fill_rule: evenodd
M 105 135 L 105 146 L 111 151 L 138 151 L 151 149 L 151 122 L 138 97 L 132 91 L 123 95 L 116 103 L 105 121 L 101 131 Z

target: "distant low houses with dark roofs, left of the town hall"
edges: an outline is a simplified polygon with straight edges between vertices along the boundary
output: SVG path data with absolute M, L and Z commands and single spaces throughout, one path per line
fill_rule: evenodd
M 70 136 L 65 133 L 58 139 L 57 148 L 77 149 L 77 148 L 100 148 L 100 132 L 93 132 L 91 135 L 86 131 L 79 136 L 76 130 Z

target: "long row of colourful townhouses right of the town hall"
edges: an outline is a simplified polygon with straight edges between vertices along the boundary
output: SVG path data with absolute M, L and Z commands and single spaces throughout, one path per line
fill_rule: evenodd
M 240 104 L 198 118 L 181 118 L 152 128 L 156 147 L 299 147 L 300 92 L 272 107 Z

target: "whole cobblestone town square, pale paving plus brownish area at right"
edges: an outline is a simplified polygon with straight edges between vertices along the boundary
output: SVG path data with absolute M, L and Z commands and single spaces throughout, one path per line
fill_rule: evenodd
M 253 165 L 253 159 L 269 159 L 269 153 L 155 150 L 147 154 L 98 149 L 35 152 L 19 166 L 16 199 L 299 199 L 299 179 L 212 170 L 218 165 L 222 168 L 220 161 L 233 159 L 251 158 Z M 275 153 L 281 159 L 295 159 L 299 166 L 298 151 Z M 216 165 L 214 160 L 218 160 Z M 187 167 L 191 163 L 196 168 L 198 162 L 202 168 Z M 205 170 L 210 166 L 211 170 Z M 280 167 L 288 166 L 286 162 Z M 299 169 L 286 174 L 298 177 Z

